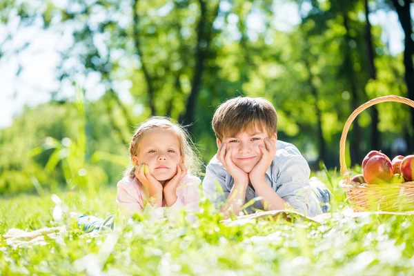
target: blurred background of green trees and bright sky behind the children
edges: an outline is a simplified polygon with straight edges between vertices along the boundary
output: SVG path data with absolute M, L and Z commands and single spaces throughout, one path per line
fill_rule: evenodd
M 208 163 L 215 108 L 266 97 L 278 137 L 313 170 L 339 166 L 359 105 L 414 99 L 411 0 L 0 0 L 0 194 L 115 186 L 139 122 L 170 116 Z M 369 150 L 414 151 L 414 108 L 381 103 L 348 132 Z

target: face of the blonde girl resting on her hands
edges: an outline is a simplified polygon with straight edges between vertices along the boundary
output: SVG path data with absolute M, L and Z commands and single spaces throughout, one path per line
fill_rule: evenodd
M 158 181 L 166 181 L 177 174 L 177 164 L 183 161 L 179 139 L 170 130 L 148 130 L 139 141 L 138 152 L 132 157 L 135 166 L 148 164 L 150 173 Z

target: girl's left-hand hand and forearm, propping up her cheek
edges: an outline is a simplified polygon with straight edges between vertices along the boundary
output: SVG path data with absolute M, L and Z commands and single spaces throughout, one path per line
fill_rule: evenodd
M 135 168 L 135 177 L 141 182 L 148 191 L 150 203 L 155 207 L 162 206 L 162 185 L 150 173 L 147 164 L 140 164 Z

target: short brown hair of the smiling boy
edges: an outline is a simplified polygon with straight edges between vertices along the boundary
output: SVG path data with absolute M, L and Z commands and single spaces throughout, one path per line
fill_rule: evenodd
M 213 130 L 220 141 L 240 132 L 253 132 L 256 126 L 268 132 L 269 137 L 277 132 L 277 112 L 267 99 L 242 96 L 229 99 L 217 107 L 213 116 Z

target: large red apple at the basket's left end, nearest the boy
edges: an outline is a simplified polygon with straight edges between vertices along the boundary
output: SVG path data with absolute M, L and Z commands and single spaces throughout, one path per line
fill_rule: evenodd
M 381 155 L 371 157 L 364 167 L 364 179 L 368 184 L 387 183 L 393 177 L 391 161 Z

